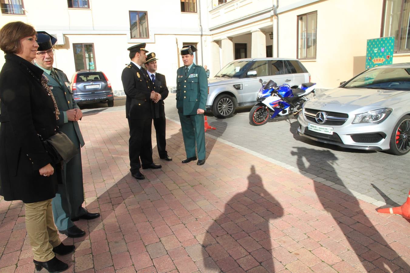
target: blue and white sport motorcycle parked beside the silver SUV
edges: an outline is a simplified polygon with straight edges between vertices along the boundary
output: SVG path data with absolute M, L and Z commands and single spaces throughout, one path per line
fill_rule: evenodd
M 262 79 L 259 82 L 262 84 Z M 297 118 L 303 102 L 307 100 L 306 96 L 314 93 L 315 85 L 316 83 L 307 82 L 292 89 L 289 84 L 278 86 L 276 82 L 269 80 L 265 85 L 262 84 L 257 93 L 257 104 L 249 112 L 249 122 L 259 126 L 280 116 L 295 115 Z

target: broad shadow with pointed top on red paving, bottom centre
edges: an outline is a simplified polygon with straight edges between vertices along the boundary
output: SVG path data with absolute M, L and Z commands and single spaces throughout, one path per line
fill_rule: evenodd
M 283 208 L 264 188 L 252 165 L 247 189 L 226 202 L 223 214 L 204 223 L 207 232 L 201 234 L 203 260 L 199 270 L 227 272 L 238 265 L 245 271 L 260 265 L 269 272 L 281 270 L 284 267 L 269 252 L 276 247 L 274 240 L 282 236 L 270 222 L 281 216 Z

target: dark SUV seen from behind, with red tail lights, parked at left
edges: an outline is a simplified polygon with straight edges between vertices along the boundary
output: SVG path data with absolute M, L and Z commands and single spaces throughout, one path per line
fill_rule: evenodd
M 101 71 L 76 72 L 71 80 L 73 98 L 78 105 L 95 102 L 107 102 L 114 106 L 114 93 L 111 82 Z

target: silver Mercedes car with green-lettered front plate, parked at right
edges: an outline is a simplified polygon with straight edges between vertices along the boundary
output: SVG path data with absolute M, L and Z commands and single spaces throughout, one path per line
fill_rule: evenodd
M 410 150 L 410 63 L 370 68 L 304 103 L 298 134 L 338 146 Z

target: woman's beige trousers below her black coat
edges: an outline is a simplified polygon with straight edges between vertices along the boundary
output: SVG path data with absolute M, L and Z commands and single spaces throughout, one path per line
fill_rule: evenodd
M 25 204 L 25 223 L 34 259 L 47 262 L 54 258 L 52 248 L 61 241 L 52 217 L 51 199 Z

